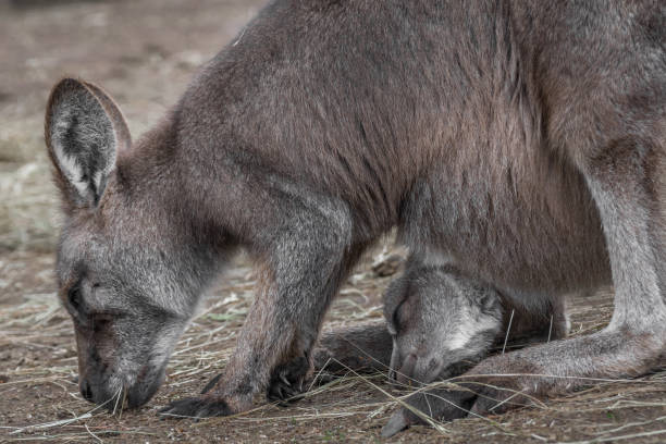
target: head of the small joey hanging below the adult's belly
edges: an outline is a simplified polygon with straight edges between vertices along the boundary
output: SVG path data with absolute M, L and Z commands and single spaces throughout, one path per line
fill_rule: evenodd
M 458 367 L 482 358 L 502 328 L 494 291 L 441 268 L 394 281 L 384 316 L 393 336 L 391 370 L 399 382 L 430 383 L 461 372 Z

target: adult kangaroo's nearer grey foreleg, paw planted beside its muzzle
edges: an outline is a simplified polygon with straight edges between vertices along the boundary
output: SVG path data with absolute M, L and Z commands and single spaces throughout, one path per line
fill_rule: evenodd
M 210 417 L 247 410 L 276 367 L 295 359 L 310 361 L 325 310 L 359 248 L 350 246 L 344 206 L 291 197 L 279 208 L 288 211 L 262 239 L 268 252 L 261 257 L 261 284 L 224 374 L 202 396 L 172 403 L 162 415 Z

